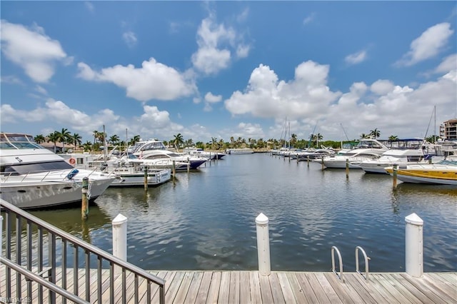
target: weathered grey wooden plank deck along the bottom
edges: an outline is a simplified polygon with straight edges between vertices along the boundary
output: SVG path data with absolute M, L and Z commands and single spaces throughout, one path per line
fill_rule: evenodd
M 0 265 L 0 302 L 6 297 L 5 266 Z M 12 296 L 16 298 L 16 275 L 11 270 Z M 370 273 L 366 281 L 358 273 L 344 273 L 344 282 L 335 274 L 316 272 L 278 272 L 259 275 L 258 271 L 151 271 L 166 280 L 166 303 L 457 303 L 457 273 L 425 273 L 413 278 L 406 273 Z M 62 273 L 57 270 L 57 284 Z M 79 296 L 85 298 L 84 270 L 79 270 Z M 96 278 L 96 270 L 89 273 Z M 102 271 L 103 298 L 96 299 L 97 286 L 91 280 L 91 303 L 109 303 L 109 270 Z M 124 303 L 114 281 L 116 299 Z M 134 303 L 134 277 L 126 278 L 125 303 Z M 146 303 L 146 284 L 139 281 L 139 303 Z M 67 290 L 73 292 L 73 270 L 67 271 Z M 31 303 L 39 303 L 33 283 Z M 26 280 L 21 279 L 21 298 L 26 299 Z M 44 288 L 43 302 L 48 292 Z M 159 303 L 158 288 L 151 288 L 152 303 Z M 62 303 L 57 296 L 57 303 Z M 67 302 L 69 303 L 69 302 Z

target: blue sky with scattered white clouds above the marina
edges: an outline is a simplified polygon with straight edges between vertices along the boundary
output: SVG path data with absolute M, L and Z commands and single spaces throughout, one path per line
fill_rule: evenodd
M 455 1 L 1 1 L 1 131 L 91 141 L 431 136 Z M 346 132 L 346 134 L 345 134 Z

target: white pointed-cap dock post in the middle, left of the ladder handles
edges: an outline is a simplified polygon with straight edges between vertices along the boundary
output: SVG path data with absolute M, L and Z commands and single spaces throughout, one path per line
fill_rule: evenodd
M 270 275 L 270 238 L 268 235 L 268 218 L 260 213 L 256 217 L 258 273 Z

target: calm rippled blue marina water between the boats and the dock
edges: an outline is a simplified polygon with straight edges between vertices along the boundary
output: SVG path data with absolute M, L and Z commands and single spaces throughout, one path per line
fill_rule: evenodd
M 457 189 L 390 176 L 324 170 L 267 154 L 226 156 L 158 188 L 109 188 L 81 222 L 79 208 L 34 211 L 112 252 L 111 221 L 128 220 L 128 260 L 147 270 L 255 270 L 255 218 L 268 216 L 272 270 L 328 271 L 331 246 L 355 270 L 355 248 L 373 272 L 404 271 L 405 217 L 424 221 L 424 271 L 457 270 Z

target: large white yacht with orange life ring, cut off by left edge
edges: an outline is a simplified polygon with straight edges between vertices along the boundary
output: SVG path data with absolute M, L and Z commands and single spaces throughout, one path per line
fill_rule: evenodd
M 82 201 L 83 179 L 89 178 L 94 201 L 116 176 L 78 170 L 24 133 L 0 133 L 0 198 L 19 208 L 46 208 Z

